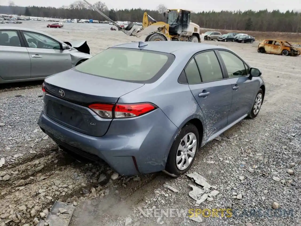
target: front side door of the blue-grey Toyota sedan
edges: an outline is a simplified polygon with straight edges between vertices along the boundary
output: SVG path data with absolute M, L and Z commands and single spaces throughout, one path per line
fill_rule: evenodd
M 228 115 L 230 124 L 250 112 L 259 80 L 254 80 L 252 77 L 250 79 L 247 64 L 233 53 L 219 50 L 219 54 L 225 64 L 232 89 L 232 104 Z

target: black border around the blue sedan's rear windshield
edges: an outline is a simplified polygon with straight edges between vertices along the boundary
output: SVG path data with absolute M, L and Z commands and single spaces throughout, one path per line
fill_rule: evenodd
M 136 81 L 136 80 L 124 80 L 124 79 L 108 78 L 108 77 L 104 77 L 104 76 L 100 76 L 100 75 L 89 74 L 89 73 L 86 73 L 86 72 L 78 71 L 78 70 L 76 70 L 76 67 L 71 68 L 71 70 L 74 70 L 74 71 L 77 71 L 77 72 L 83 73 L 83 74 L 89 74 L 89 75 L 93 75 L 93 76 L 97 76 L 97 77 L 103 77 L 103 78 L 112 79 L 112 80 L 119 80 L 119 81 L 123 81 L 123 82 L 131 82 L 131 83 L 138 83 L 138 84 L 151 84 L 151 83 L 156 82 L 158 79 L 160 79 L 160 77 L 162 77 L 163 74 L 165 74 L 165 72 L 169 69 L 169 67 L 175 61 L 175 55 L 173 55 L 172 53 L 159 52 L 159 51 L 146 50 L 146 49 L 134 49 L 134 48 L 116 47 L 116 46 L 110 47 L 110 48 L 107 48 L 107 49 L 125 49 L 125 50 L 138 51 L 138 52 L 139 51 L 142 51 L 142 52 L 152 52 L 152 53 L 156 53 L 156 54 L 166 55 L 167 56 L 167 61 L 163 65 L 163 67 L 157 72 L 157 74 L 155 74 L 151 79 L 148 79 L 148 80 L 137 80 Z M 104 51 L 106 51 L 107 49 L 105 49 Z M 97 56 L 97 55 L 95 55 L 95 56 Z M 95 57 L 95 56 L 93 56 L 93 57 Z M 82 64 L 84 64 L 84 63 L 85 62 L 83 62 Z

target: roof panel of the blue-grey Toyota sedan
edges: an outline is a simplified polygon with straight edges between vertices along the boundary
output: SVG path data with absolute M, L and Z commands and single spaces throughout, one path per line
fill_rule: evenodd
M 113 46 L 113 48 L 130 48 L 130 49 L 144 49 L 157 52 L 172 53 L 174 55 L 194 55 L 196 52 L 210 49 L 227 49 L 222 46 L 198 43 L 198 42 L 181 42 L 181 41 L 159 41 L 159 42 L 144 42 L 147 46 L 138 47 L 138 42 L 130 42 Z

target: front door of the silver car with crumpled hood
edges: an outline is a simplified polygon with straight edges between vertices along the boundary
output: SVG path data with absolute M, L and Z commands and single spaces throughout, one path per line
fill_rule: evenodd
M 72 67 L 69 50 L 61 50 L 61 44 L 40 33 L 23 31 L 25 44 L 31 59 L 31 78 L 42 78 Z

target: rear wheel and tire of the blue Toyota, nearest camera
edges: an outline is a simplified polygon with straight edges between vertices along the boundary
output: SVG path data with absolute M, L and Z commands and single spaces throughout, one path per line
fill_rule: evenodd
M 194 162 L 199 148 L 199 132 L 193 124 L 186 124 L 178 133 L 169 151 L 165 173 L 172 177 L 185 174 Z

